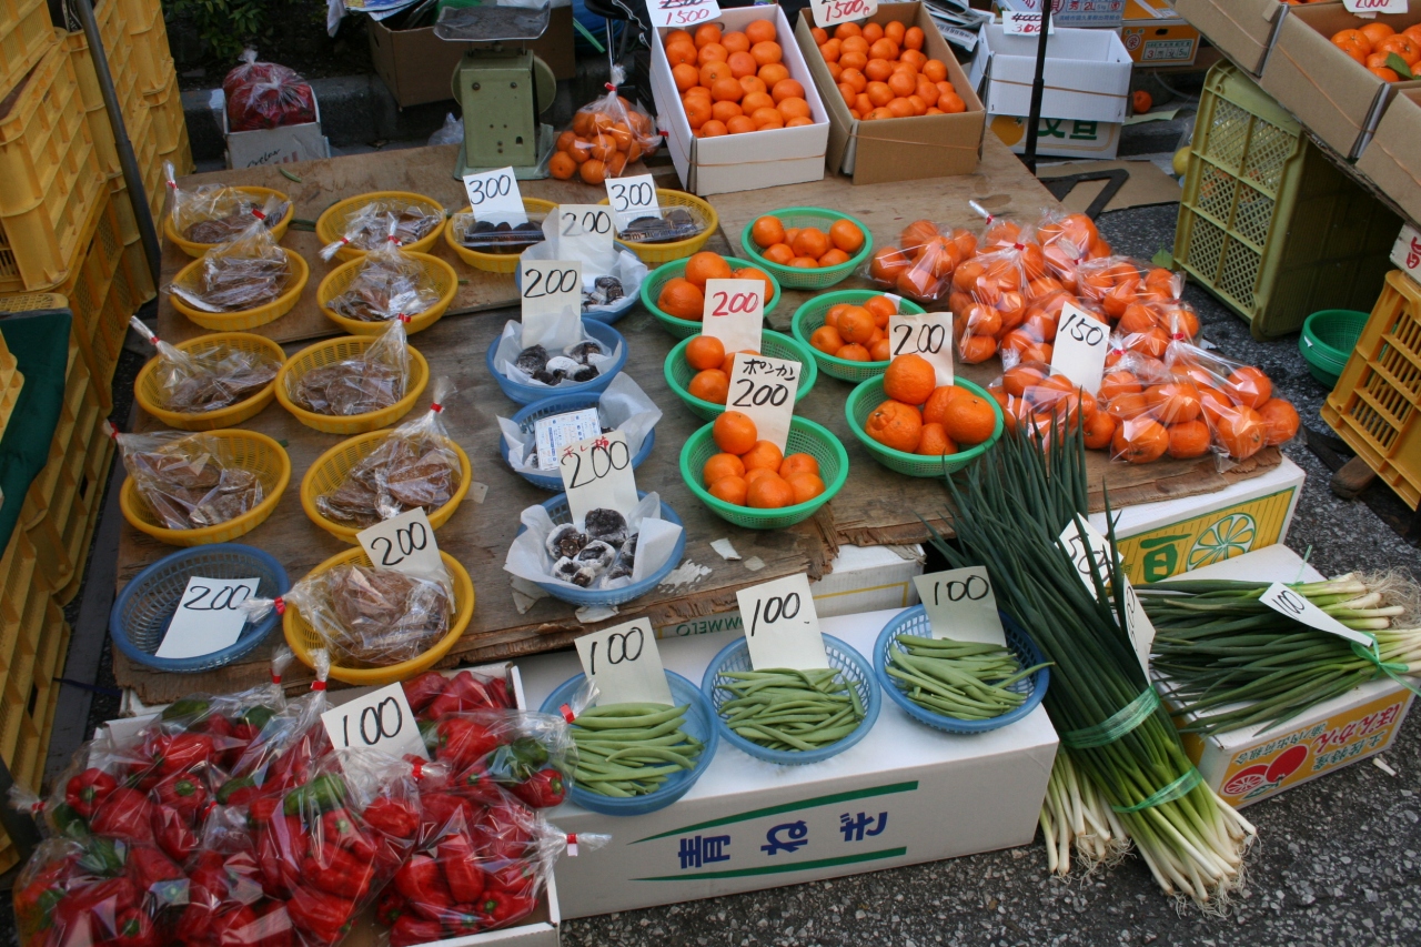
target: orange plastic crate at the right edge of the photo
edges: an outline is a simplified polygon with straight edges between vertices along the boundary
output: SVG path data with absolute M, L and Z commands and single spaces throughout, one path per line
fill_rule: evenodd
M 1323 419 L 1411 509 L 1421 502 L 1421 286 L 1387 273 Z

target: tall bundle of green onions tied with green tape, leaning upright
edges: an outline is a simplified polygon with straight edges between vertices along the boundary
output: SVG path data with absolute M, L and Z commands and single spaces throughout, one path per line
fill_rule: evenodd
M 1087 589 L 1057 539 L 1069 523 L 1086 529 L 1080 431 L 1056 429 L 1049 445 L 1013 432 L 969 468 L 965 485 L 951 476 L 946 485 L 956 539 L 934 545 L 953 567 L 986 566 L 998 604 L 1052 661 L 1044 705 L 1071 764 L 1167 893 L 1198 903 L 1226 894 L 1255 829 L 1204 785 L 1158 705 L 1127 633 L 1118 556 L 1101 563 L 1087 550 Z

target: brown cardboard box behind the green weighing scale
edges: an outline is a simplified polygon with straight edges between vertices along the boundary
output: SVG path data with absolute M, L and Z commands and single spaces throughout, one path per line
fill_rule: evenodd
M 375 73 L 401 108 L 450 100 L 450 80 L 466 50 L 490 48 L 492 43 L 446 43 L 433 27 L 391 30 L 371 18 L 369 58 Z M 577 75 L 573 50 L 573 7 L 553 7 L 547 30 L 524 44 L 549 64 L 558 80 Z

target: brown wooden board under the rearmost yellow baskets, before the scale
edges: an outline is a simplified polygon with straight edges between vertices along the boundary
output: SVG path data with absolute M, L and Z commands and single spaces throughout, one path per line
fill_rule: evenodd
M 271 188 L 291 198 L 296 216 L 315 220 L 338 200 L 354 198 L 371 191 L 408 191 L 432 198 L 456 213 L 469 205 L 463 182 L 453 178 L 453 164 L 458 145 L 436 145 L 432 148 L 405 148 L 398 151 L 375 151 L 365 155 L 325 158 L 294 165 L 243 168 L 240 171 L 210 171 L 178 179 L 179 188 L 195 188 L 203 183 L 254 185 Z M 301 181 L 287 178 L 287 171 Z M 632 166 L 628 173 L 647 173 L 644 166 Z M 674 171 L 671 172 L 674 178 Z M 674 183 L 671 186 L 675 186 Z M 568 203 L 597 203 L 607 196 L 603 188 L 593 188 L 580 181 L 520 181 L 519 191 L 526 198 Z M 162 222 L 159 222 L 159 233 Z M 315 304 L 315 287 L 333 269 L 344 263 L 337 257 L 327 263 L 321 259 L 323 242 L 310 230 L 287 230 L 281 246 L 300 253 L 311 267 L 311 279 L 300 301 L 290 313 L 276 321 L 247 331 L 274 338 L 279 343 L 304 341 L 342 334 L 342 330 L 321 314 Z M 429 250 L 446 260 L 459 274 L 462 283 L 449 306 L 449 316 L 487 311 L 503 306 L 514 306 L 519 300 L 512 274 L 486 273 L 460 260 L 441 236 Z M 176 246 L 163 246 L 162 284 L 172 282 L 192 257 Z M 166 341 L 180 343 L 207 333 L 206 328 L 188 321 L 172 307 L 166 293 L 158 296 L 158 334 Z

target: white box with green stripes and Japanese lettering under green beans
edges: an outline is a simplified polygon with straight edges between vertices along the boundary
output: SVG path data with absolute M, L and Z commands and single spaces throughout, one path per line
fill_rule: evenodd
M 824 619 L 820 627 L 868 654 L 897 610 Z M 668 670 L 699 681 L 725 636 L 661 643 Z M 529 701 L 578 673 L 571 653 L 520 660 Z M 924 727 L 884 701 L 874 729 L 843 754 L 777 766 L 720 742 L 705 775 L 674 805 L 603 816 L 573 803 L 566 832 L 611 843 L 557 865 L 567 917 L 632 910 L 1026 845 L 1056 758 L 1037 707 L 1025 719 L 961 737 Z

